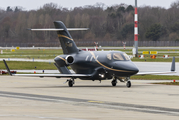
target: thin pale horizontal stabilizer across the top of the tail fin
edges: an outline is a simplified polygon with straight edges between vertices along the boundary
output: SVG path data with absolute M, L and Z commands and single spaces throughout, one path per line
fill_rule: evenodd
M 88 30 L 89 28 L 67 28 L 68 31 L 78 31 L 78 30 Z M 44 28 L 44 29 L 31 29 L 27 30 L 31 31 L 64 31 L 64 29 L 56 29 L 56 28 Z

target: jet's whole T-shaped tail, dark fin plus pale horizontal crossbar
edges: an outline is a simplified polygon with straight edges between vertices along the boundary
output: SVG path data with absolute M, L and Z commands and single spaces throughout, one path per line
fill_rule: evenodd
M 57 31 L 58 38 L 60 40 L 61 47 L 64 54 L 73 54 L 78 53 L 79 49 L 77 48 L 73 38 L 71 37 L 68 31 L 76 30 L 88 30 L 88 28 L 66 28 L 63 22 L 55 21 L 55 28 L 48 29 L 29 29 L 31 31 Z

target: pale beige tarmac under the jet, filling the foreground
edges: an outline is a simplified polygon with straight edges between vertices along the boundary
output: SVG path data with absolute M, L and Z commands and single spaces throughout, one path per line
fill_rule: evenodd
M 178 120 L 179 87 L 132 80 L 111 81 L 0 76 L 2 120 Z M 172 80 L 171 80 L 172 81 Z M 171 82 L 166 81 L 166 82 Z

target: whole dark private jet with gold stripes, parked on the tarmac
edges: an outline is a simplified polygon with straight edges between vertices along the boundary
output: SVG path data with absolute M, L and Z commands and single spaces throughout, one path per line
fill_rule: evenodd
M 130 77 L 133 75 L 166 74 L 175 72 L 175 58 L 173 58 L 171 70 L 162 72 L 140 73 L 137 66 L 130 60 L 125 52 L 121 51 L 83 51 L 80 50 L 69 31 L 88 30 L 86 28 L 66 28 L 63 22 L 55 21 L 55 28 L 50 29 L 29 29 L 31 31 L 56 31 L 63 55 L 54 58 L 54 65 L 59 70 L 59 74 L 12 74 L 5 60 L 4 64 L 11 76 L 30 77 L 56 77 L 67 79 L 69 87 L 75 83 L 75 79 L 81 80 L 112 80 L 112 86 L 116 86 L 118 80 L 125 82 L 127 87 L 131 87 Z M 68 66 L 74 71 L 72 73 Z

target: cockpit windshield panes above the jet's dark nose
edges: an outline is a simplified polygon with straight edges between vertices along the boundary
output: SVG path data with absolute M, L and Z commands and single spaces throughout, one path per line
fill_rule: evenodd
M 107 54 L 108 60 L 116 61 L 128 61 L 130 60 L 129 56 L 126 53 L 109 53 Z

